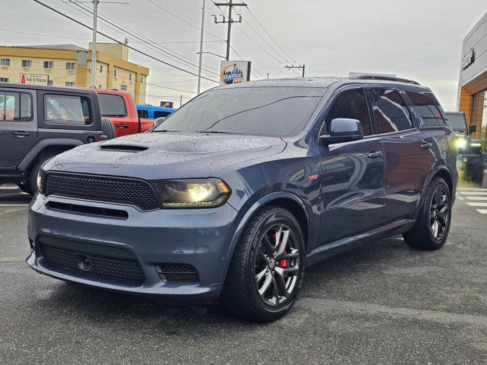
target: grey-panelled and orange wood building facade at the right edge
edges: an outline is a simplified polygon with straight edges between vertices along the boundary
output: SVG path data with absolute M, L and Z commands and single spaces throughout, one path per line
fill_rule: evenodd
M 457 108 L 477 131 L 472 138 L 485 140 L 487 125 L 487 13 L 465 36 L 462 46 Z

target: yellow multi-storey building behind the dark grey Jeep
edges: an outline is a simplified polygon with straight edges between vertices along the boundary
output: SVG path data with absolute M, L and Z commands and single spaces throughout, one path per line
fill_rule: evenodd
M 148 76 L 149 68 L 128 61 L 125 45 L 96 43 L 96 88 L 128 91 L 135 103 L 145 104 Z M 91 79 L 91 42 L 89 49 L 72 44 L 0 47 L 0 82 L 91 87 Z

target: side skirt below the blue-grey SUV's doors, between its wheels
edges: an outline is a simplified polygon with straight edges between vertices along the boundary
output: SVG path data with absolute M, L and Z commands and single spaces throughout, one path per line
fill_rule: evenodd
M 357 248 L 363 244 L 406 232 L 414 225 L 414 222 L 415 221 L 413 220 L 403 219 L 352 237 L 342 238 L 341 240 L 317 247 L 306 255 L 306 266 L 315 265 L 338 253 Z

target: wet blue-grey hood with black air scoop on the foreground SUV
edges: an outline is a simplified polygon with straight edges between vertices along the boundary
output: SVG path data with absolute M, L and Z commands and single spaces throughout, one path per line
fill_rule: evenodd
M 44 169 L 144 179 L 208 177 L 234 165 L 261 161 L 285 147 L 278 137 L 140 133 L 82 145 L 56 156 Z

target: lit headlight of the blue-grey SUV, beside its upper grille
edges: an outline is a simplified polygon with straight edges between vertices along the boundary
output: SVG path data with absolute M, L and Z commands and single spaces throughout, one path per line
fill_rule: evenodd
M 218 178 L 156 180 L 152 185 L 163 208 L 215 208 L 227 201 L 230 188 Z

